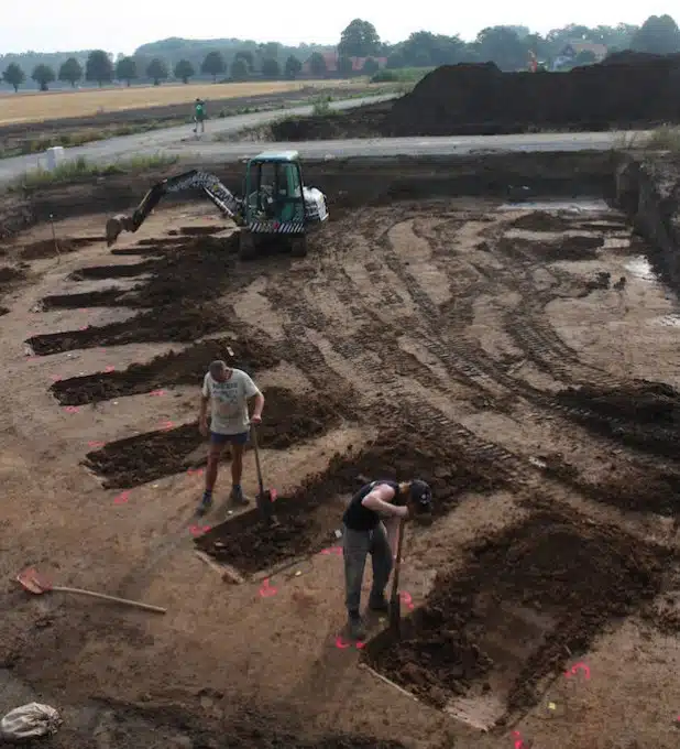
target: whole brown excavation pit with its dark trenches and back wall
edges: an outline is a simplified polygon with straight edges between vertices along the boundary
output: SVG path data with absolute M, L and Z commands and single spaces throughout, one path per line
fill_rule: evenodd
M 331 218 L 308 257 L 248 263 L 200 202 L 164 203 L 113 252 L 90 241 L 105 217 L 88 213 L 129 209 L 157 175 L 8 198 L 4 265 L 22 275 L 0 338 L 4 574 L 35 564 L 167 612 L 6 586 L 0 685 L 11 664 L 40 693 L 0 690 L 0 714 L 69 706 L 58 749 L 674 749 L 676 187 L 666 160 L 652 247 L 601 199 L 611 160 L 312 162 Z M 641 184 L 626 208 L 651 225 Z M 508 185 L 562 199 L 507 203 Z M 50 214 L 72 242 L 58 262 Z M 228 455 L 195 514 L 216 357 L 264 392 L 276 529 L 222 503 Z M 254 498 L 250 446 L 243 464 Z M 435 503 L 407 527 L 403 641 L 368 616 L 355 643 L 343 508 L 368 480 L 414 477 Z

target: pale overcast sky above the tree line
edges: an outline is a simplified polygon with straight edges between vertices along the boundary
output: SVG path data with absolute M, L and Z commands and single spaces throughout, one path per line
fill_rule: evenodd
M 420 0 L 413 6 L 407 6 L 406 0 L 255 0 L 248 3 L 234 0 L 113 0 L 110 3 L 39 0 L 37 4 L 2 0 L 1 4 L 0 54 L 94 47 L 131 53 L 145 42 L 168 36 L 334 44 L 353 18 L 371 21 L 384 41 L 398 42 L 420 30 L 458 33 L 464 40 L 471 40 L 484 26 L 505 23 L 523 24 L 545 33 L 572 22 L 588 26 L 616 25 L 622 21 L 639 24 L 648 15 L 670 13 L 680 17 L 677 0 L 629 3 L 629 10 L 614 0 L 526 0 L 524 3 L 486 0 L 480 4 Z M 415 12 L 397 12 L 402 8 Z M 676 20 L 680 21 L 680 18 Z

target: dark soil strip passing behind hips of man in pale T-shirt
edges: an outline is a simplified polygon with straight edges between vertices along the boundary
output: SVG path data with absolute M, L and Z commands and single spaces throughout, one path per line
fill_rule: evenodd
M 286 449 L 325 434 L 340 422 L 341 404 L 330 399 L 267 388 L 265 401 L 264 419 L 257 427 L 259 444 L 264 448 Z M 205 443 L 197 423 L 184 424 L 110 442 L 88 453 L 86 465 L 105 478 L 107 488 L 129 488 L 205 465 L 205 453 L 194 455 Z

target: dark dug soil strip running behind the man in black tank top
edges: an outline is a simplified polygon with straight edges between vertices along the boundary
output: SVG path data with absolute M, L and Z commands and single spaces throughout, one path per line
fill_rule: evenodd
M 251 575 L 340 543 L 334 531 L 342 525 L 346 502 L 366 478 L 428 481 L 435 496 L 432 522 L 451 512 L 463 492 L 487 493 L 504 486 L 491 462 L 468 455 L 458 445 L 404 434 L 386 430 L 371 446 L 333 455 L 326 470 L 276 500 L 277 528 L 264 528 L 257 511 L 251 510 L 216 525 L 196 539 L 196 545 Z

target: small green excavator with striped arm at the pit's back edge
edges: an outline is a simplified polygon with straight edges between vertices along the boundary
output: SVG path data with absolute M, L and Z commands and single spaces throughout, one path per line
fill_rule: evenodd
M 200 191 L 217 208 L 239 226 L 239 254 L 252 258 L 273 242 L 292 254 L 307 254 L 307 235 L 328 219 L 326 196 L 303 183 L 297 151 L 265 151 L 249 160 L 244 197 L 233 195 L 218 177 L 191 170 L 155 184 L 131 216 L 119 215 L 107 221 L 107 243 L 121 231 L 136 231 L 168 193 Z

